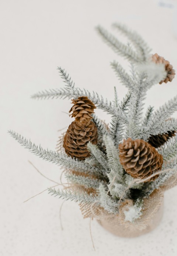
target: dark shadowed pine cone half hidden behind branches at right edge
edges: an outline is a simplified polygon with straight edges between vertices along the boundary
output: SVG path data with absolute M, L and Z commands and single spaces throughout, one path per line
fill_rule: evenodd
M 176 131 L 167 132 L 164 134 L 151 135 L 148 139 L 148 143 L 153 147 L 160 147 L 167 142 L 171 137 L 176 136 Z

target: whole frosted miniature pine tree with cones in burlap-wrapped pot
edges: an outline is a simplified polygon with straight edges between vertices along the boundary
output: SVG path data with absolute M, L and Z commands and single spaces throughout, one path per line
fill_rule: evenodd
M 59 164 L 70 184 L 65 189 L 49 188 L 49 193 L 79 202 L 84 217 L 97 219 L 118 236 L 134 237 L 147 233 L 162 217 L 163 193 L 177 185 L 177 96 L 154 110 L 149 106 L 143 116 L 143 101 L 154 84 L 171 82 L 173 66 L 157 53 L 150 54 L 145 41 L 120 24 L 116 30 L 128 37 L 125 45 L 102 27 L 104 41 L 130 63 L 126 72 L 111 63 L 118 79 L 128 88 L 121 103 L 115 88 L 113 102 L 98 93 L 74 85 L 65 70 L 62 89 L 39 92 L 33 99 L 72 99 L 70 115 L 75 120 L 59 139 L 58 150 L 44 150 L 18 133 L 10 134 L 32 153 Z M 162 85 L 159 85 L 162 86 Z M 94 110 L 112 116 L 109 125 Z

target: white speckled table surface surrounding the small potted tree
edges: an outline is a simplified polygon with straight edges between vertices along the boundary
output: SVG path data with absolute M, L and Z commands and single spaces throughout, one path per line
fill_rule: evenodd
M 110 68 L 115 55 L 98 37 L 97 24 L 110 28 L 121 21 L 137 30 L 152 47 L 177 69 L 177 39 L 173 8 L 158 6 L 155 0 L 1 0 L 0 2 L 0 255 L 60 256 L 177 255 L 177 188 L 165 193 L 163 220 L 153 232 L 134 239 L 119 238 L 96 221 L 91 230 L 79 206 L 44 192 L 24 200 L 54 184 L 42 177 L 30 160 L 47 177 L 59 181 L 62 170 L 22 148 L 8 129 L 31 138 L 44 148 L 55 149 L 59 129 L 68 126 L 70 101 L 30 99 L 30 95 L 63 86 L 57 66 L 70 73 L 77 86 L 96 90 L 119 99 L 126 89 Z M 118 34 L 117 34 L 118 35 Z M 146 105 L 155 108 L 177 94 L 177 80 L 155 85 L 147 94 Z M 96 110 L 101 119 L 110 121 Z M 176 116 L 176 114 L 174 115 Z

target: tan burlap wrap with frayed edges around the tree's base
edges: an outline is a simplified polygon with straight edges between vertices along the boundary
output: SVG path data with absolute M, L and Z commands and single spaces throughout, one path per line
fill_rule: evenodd
M 80 203 L 80 210 L 84 218 L 96 219 L 101 226 L 114 235 L 121 237 L 136 237 L 150 232 L 159 225 L 163 215 L 164 191 L 177 185 L 177 174 L 167 180 L 163 186 L 155 190 L 148 198 L 144 199 L 142 215 L 133 223 L 125 221 L 124 212 L 133 206 L 133 200 L 127 199 L 119 206 L 117 215 L 106 212 L 94 204 Z M 84 188 L 82 188 L 84 191 Z

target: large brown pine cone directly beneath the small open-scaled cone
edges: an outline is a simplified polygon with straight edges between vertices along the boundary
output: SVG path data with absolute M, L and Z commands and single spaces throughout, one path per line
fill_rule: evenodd
M 84 160 L 90 156 L 87 143 L 97 144 L 97 127 L 88 121 L 87 123 L 72 122 L 67 129 L 63 146 L 68 156 Z

